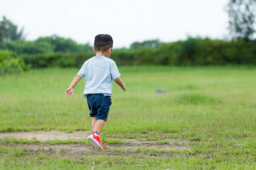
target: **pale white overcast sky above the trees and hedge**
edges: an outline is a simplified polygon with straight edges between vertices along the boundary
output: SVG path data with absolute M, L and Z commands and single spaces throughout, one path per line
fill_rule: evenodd
M 26 40 L 57 34 L 93 44 L 111 34 L 114 48 L 132 42 L 184 40 L 187 35 L 223 39 L 228 34 L 228 0 L 0 0 L 6 16 Z

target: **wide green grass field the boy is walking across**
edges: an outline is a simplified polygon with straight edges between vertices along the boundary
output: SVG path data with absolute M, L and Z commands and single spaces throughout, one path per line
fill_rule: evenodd
M 120 67 L 127 91 L 113 84 L 101 133 L 109 146 L 104 150 L 93 149 L 86 138 L 3 137 L 17 131 L 90 131 L 85 80 L 73 97 L 64 94 L 78 71 L 49 68 L 0 77 L 0 169 L 90 170 L 93 161 L 95 170 L 256 169 L 253 66 Z M 87 149 L 73 153 L 71 146 Z

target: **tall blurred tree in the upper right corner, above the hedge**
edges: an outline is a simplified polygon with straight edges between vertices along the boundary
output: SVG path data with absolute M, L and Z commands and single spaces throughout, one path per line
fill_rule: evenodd
M 256 0 L 230 0 L 227 4 L 229 30 L 233 40 L 250 40 L 255 32 Z

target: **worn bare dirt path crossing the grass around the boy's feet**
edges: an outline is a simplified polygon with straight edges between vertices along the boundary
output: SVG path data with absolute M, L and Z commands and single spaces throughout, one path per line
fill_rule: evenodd
M 89 131 L 74 131 L 73 133 L 65 133 L 62 131 L 37 131 L 37 132 L 13 132 L 13 133 L 0 133 L 0 139 L 6 137 L 15 137 L 17 139 L 38 139 L 40 141 L 47 140 L 67 140 L 67 139 L 85 139 Z M 94 149 L 91 144 L 85 143 L 73 143 L 73 144 L 13 144 L 13 143 L 2 143 L 0 145 L 6 147 L 23 147 L 32 152 L 39 153 L 58 153 L 67 156 L 83 156 L 83 155 L 95 155 L 104 153 L 111 156 L 118 156 L 122 154 L 134 154 L 138 148 L 141 149 L 157 149 L 157 150 L 189 150 L 188 140 L 176 140 L 166 139 L 165 144 L 159 144 L 159 141 L 150 140 L 147 141 L 145 138 L 142 139 L 121 139 L 126 144 L 104 144 L 105 150 Z M 117 151 L 119 150 L 119 151 Z M 113 154 L 115 153 L 115 154 Z

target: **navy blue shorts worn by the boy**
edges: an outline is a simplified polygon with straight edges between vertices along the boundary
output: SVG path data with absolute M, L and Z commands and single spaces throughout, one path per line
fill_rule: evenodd
M 90 117 L 107 121 L 108 112 L 111 105 L 110 96 L 103 94 L 88 94 L 87 104 L 90 110 Z

